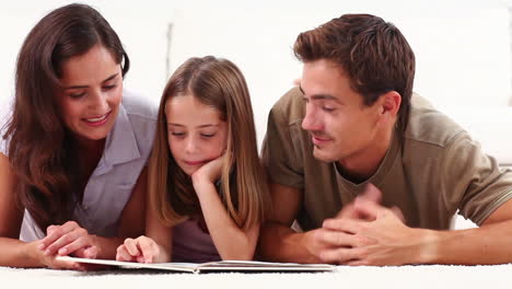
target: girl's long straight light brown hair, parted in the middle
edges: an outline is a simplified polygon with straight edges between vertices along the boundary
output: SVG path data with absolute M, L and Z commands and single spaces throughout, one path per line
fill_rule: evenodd
M 244 229 L 261 222 L 269 207 L 268 185 L 258 158 L 247 84 L 233 62 L 212 56 L 185 61 L 162 94 L 149 162 L 150 209 L 166 226 L 201 212 L 190 177 L 177 166 L 167 142 L 165 104 L 183 95 L 216 107 L 228 124 L 225 151 L 231 153 L 225 155 L 219 194 L 229 215 Z

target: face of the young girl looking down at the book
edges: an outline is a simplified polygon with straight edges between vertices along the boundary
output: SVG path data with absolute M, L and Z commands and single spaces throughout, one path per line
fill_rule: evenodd
M 228 125 L 217 108 L 193 95 L 178 95 L 167 101 L 165 115 L 171 153 L 187 175 L 222 155 Z

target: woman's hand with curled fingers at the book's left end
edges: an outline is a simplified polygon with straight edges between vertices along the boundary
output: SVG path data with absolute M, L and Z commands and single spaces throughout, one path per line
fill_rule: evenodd
M 95 258 L 98 248 L 95 236 L 74 221 L 62 226 L 49 226 L 46 236 L 40 240 L 37 248 L 46 256 L 74 255 L 82 258 Z

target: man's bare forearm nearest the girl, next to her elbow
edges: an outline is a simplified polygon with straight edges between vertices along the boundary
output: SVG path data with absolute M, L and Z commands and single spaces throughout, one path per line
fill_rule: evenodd
M 267 222 L 260 232 L 258 254 L 272 262 L 322 263 L 307 247 L 307 234 L 280 223 Z

